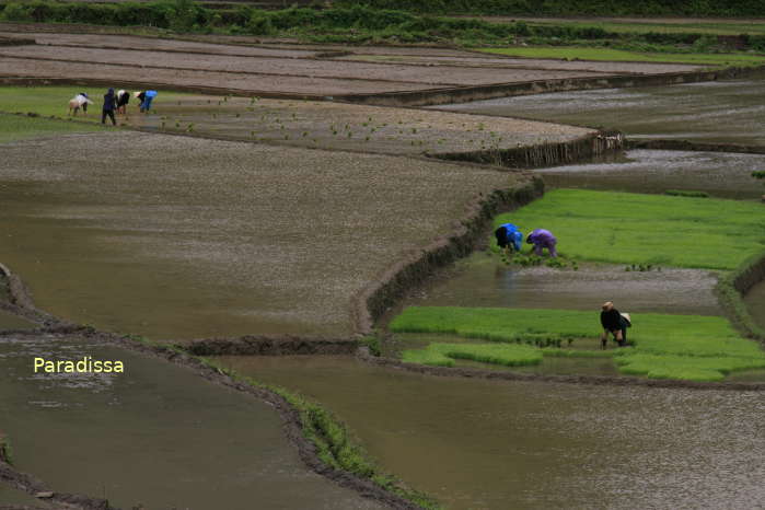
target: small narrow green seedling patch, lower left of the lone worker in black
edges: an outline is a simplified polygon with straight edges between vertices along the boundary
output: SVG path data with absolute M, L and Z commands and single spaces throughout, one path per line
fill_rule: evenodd
M 430 344 L 426 349 L 405 350 L 402 359 L 410 363 L 453 367 L 455 359 L 521 367 L 538 364 L 542 350 L 515 344 Z

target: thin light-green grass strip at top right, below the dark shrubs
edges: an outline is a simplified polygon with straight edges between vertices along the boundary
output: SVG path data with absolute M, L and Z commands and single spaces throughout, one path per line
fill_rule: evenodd
M 586 46 L 519 46 L 478 49 L 489 54 L 510 57 L 557 58 L 563 60 L 676 62 L 698 66 L 760 66 L 765 63 L 765 56 L 750 54 L 649 53 Z

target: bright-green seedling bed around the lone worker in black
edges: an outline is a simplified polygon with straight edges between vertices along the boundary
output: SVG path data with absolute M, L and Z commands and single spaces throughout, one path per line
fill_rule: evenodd
M 613 356 L 619 372 L 649 378 L 716 381 L 735 370 L 765 368 L 765 352 L 742 338 L 722 317 L 645 313 L 633 317 L 628 338 L 634 347 L 618 350 L 538 349 L 499 344 L 430 344 L 409 350 L 404 361 L 452 367 L 454 359 L 487 363 L 553 357 Z M 596 337 L 601 333 L 599 312 L 570 310 L 471 309 L 456 306 L 407 308 L 390 324 L 394 333 L 436 333 L 466 338 L 512 343 L 534 338 Z M 503 348 L 508 348 L 503 350 Z M 535 357 L 528 356 L 528 349 Z M 508 360 L 508 361 L 506 361 Z M 535 361 L 538 362 L 538 361 Z

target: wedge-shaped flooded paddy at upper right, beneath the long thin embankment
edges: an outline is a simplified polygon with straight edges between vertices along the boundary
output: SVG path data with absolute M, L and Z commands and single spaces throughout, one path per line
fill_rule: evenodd
M 629 138 L 765 146 L 765 79 L 559 92 L 439 109 L 615 128 Z

